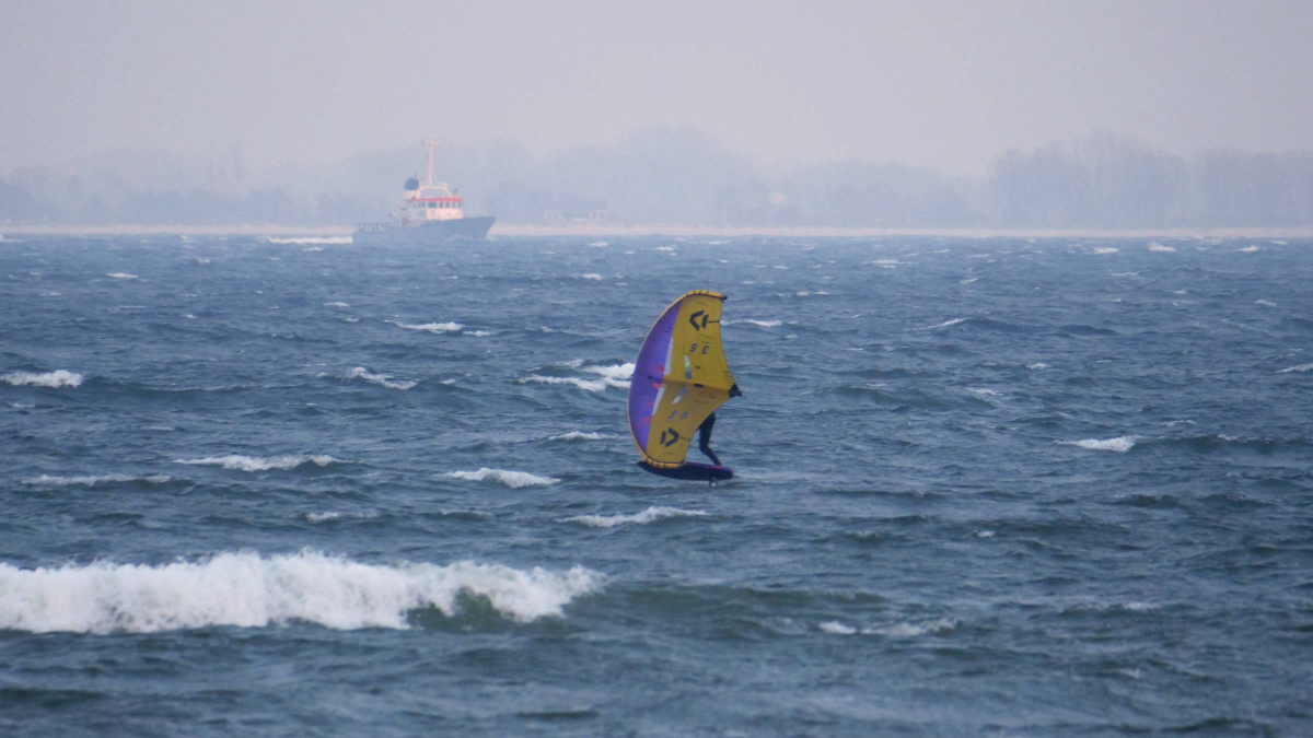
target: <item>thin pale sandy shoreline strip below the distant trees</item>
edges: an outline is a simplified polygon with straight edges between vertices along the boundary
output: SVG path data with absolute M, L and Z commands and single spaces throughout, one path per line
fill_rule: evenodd
M 24 235 L 70 236 L 133 236 L 133 235 L 186 235 L 186 236 L 349 236 L 351 226 L 0 226 L 0 238 Z M 1300 227 L 1245 227 L 1245 228 L 838 228 L 838 227 L 758 227 L 758 226 L 527 226 L 496 225 L 490 234 L 498 236 L 675 236 L 675 238 L 1082 238 L 1082 239 L 1306 239 L 1313 238 L 1313 226 Z

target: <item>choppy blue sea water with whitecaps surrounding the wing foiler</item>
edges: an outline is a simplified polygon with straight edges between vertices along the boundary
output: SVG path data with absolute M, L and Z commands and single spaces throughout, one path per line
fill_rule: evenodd
M 1310 274 L 7 238 L 0 734 L 1308 735 Z M 689 289 L 744 391 L 716 487 L 625 428 Z

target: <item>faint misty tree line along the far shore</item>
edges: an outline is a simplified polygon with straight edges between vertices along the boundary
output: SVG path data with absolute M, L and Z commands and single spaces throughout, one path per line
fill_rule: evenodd
M 418 148 L 251 172 L 239 152 L 117 152 L 0 177 L 0 223 L 301 225 L 386 219 Z M 983 176 L 836 162 L 765 176 L 687 129 L 533 156 L 444 146 L 435 169 L 466 214 L 506 223 L 829 227 L 1289 227 L 1313 225 L 1313 152 L 1194 156 L 1091 137 L 997 158 Z

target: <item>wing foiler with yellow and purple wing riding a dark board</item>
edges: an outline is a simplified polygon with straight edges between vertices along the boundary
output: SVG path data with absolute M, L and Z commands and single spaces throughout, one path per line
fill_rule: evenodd
M 721 347 L 725 295 L 684 294 L 662 313 L 638 349 L 629 385 L 629 432 L 639 466 L 675 479 L 734 477 L 726 466 L 684 461 L 697 427 L 730 399 L 734 376 Z

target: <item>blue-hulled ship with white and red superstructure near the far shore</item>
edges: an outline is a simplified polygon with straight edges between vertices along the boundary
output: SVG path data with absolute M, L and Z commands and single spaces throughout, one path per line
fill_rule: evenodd
M 433 181 L 433 139 L 424 142 L 428 150 L 428 173 L 406 180 L 400 201 L 393 206 L 386 223 L 362 223 L 351 235 L 352 243 L 364 244 L 425 244 L 450 239 L 486 240 L 492 215 L 465 217 L 465 200 L 458 190 L 445 183 Z

